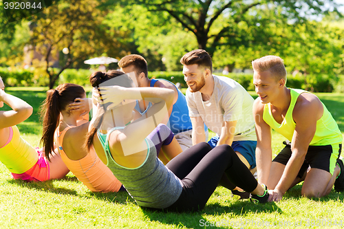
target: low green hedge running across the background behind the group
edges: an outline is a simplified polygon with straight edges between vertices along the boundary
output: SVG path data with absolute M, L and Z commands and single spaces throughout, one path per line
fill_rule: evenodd
M 54 69 L 58 72 L 58 69 Z M 89 85 L 89 69 L 65 69 L 57 83 L 75 83 L 78 85 Z M 182 72 L 149 72 L 149 78 L 164 78 L 172 83 L 180 83 L 181 87 L 187 87 Z M 221 76 L 222 74 L 218 74 Z M 43 69 L 8 69 L 0 67 L 0 76 L 5 85 L 8 86 L 47 86 L 49 78 Z M 230 73 L 226 77 L 233 78 L 246 90 L 253 91 L 252 74 Z M 287 87 L 300 88 L 314 92 L 344 92 L 344 75 L 288 75 Z

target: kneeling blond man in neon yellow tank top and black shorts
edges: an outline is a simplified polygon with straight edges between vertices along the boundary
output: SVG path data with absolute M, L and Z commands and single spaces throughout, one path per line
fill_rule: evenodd
M 252 61 L 258 98 L 253 105 L 257 133 L 258 182 L 267 184 L 269 200 L 303 181 L 301 194 L 323 197 L 332 186 L 344 190 L 343 135 L 325 105 L 314 94 L 286 87 L 286 68 L 278 56 Z M 271 129 L 291 144 L 272 161 Z

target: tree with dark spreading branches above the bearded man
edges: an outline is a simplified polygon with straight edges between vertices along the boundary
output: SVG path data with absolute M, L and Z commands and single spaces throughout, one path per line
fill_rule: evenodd
M 107 1 L 109 2 L 114 0 Z M 224 38 L 233 39 L 237 41 L 235 45 L 240 46 L 240 37 L 244 37 L 245 34 L 235 33 L 237 24 L 259 21 L 261 15 L 256 11 L 261 8 L 280 6 L 283 9 L 281 12 L 283 17 L 297 23 L 307 20 L 312 15 L 327 13 L 330 6 L 334 6 L 334 10 L 338 6 L 333 0 L 327 1 L 328 7 L 323 0 L 125 0 L 121 2 L 123 5 L 140 4 L 152 12 L 167 12 L 184 29 L 195 35 L 200 49 L 207 50 L 211 55 L 217 47 L 226 45 L 222 42 Z M 222 19 L 222 25 L 217 23 L 219 19 Z

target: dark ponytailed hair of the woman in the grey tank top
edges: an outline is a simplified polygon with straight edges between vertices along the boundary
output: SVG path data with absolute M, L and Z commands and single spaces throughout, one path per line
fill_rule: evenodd
M 118 76 L 121 76 L 121 77 L 118 77 Z M 116 78 L 116 80 L 114 78 Z M 114 79 L 114 80 L 111 80 L 111 79 Z M 133 87 L 133 80 L 131 80 L 131 78 L 127 76 L 124 72 L 120 72 L 116 70 L 109 70 L 106 73 L 94 72 L 91 74 L 91 76 L 89 76 L 89 83 L 91 83 L 92 87 L 99 87 L 100 85 L 102 86 L 118 85 L 121 87 Z M 99 91 L 99 94 L 100 94 L 100 91 Z M 96 134 L 97 129 L 99 129 L 100 125 L 103 122 L 103 116 L 109 104 L 110 103 L 108 102 L 105 105 L 100 106 L 100 108 L 98 109 L 96 113 L 96 116 L 94 116 L 92 129 L 91 131 L 89 131 L 89 133 L 86 136 L 85 147 L 87 149 L 89 149 L 89 147 L 92 145 L 94 135 Z

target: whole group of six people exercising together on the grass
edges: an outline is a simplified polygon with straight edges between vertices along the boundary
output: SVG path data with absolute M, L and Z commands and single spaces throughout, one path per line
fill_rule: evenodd
M 32 107 L 7 94 L 0 78 L 0 107 L 11 108 L 0 111 L 0 161 L 14 179 L 44 182 L 70 171 L 93 192 L 127 191 L 152 210 L 202 210 L 217 186 L 259 203 L 280 201 L 302 181 L 305 197 L 344 190 L 343 135 L 319 98 L 286 87 L 279 56 L 252 61 L 256 100 L 235 80 L 215 76 L 205 50 L 180 63 L 186 96 L 149 78 L 136 54 L 123 57 L 120 70 L 92 73 L 89 98 L 80 85 L 50 89 L 41 149 L 16 126 Z M 286 138 L 273 160 L 272 129 Z

